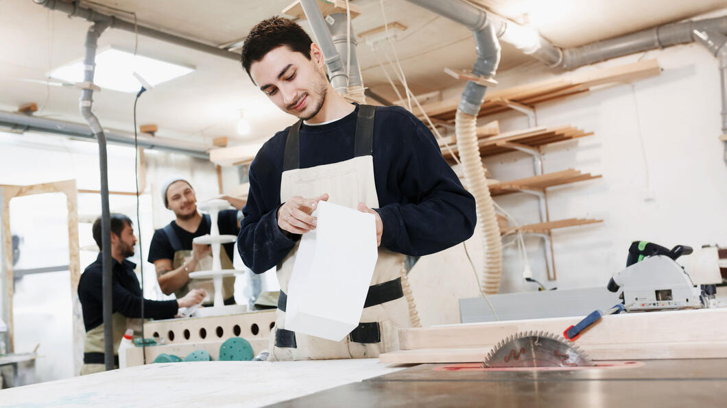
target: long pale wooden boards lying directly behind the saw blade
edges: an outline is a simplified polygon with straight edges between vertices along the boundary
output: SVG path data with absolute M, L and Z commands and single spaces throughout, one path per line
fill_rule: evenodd
M 399 330 L 387 364 L 483 362 L 500 340 L 523 331 L 560 335 L 583 317 L 512 320 Z M 727 309 L 654 311 L 604 316 L 575 344 L 593 360 L 727 357 Z

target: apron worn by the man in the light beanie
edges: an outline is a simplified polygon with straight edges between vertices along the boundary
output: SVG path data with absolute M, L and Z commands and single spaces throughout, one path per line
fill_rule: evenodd
M 202 222 L 206 223 L 208 226 L 212 226 L 212 221 L 210 219 L 209 214 L 202 214 Z M 169 243 L 172 245 L 172 249 L 174 250 L 174 259 L 172 260 L 172 270 L 176 270 L 180 268 L 185 262 L 192 260 L 192 250 L 185 250 L 182 249 L 182 244 L 180 243 L 179 237 L 177 237 L 177 232 L 174 232 L 174 228 L 172 227 L 172 224 L 168 224 L 166 227 L 162 229 L 164 231 L 164 234 L 166 234 L 166 237 L 169 239 Z M 227 251 L 225 248 L 220 248 L 220 264 L 222 264 L 222 269 L 235 269 L 232 260 L 230 260 L 230 256 L 228 256 Z M 197 267 L 194 269 L 194 271 L 209 271 L 212 269 L 212 254 L 209 256 L 205 256 L 204 258 L 201 258 L 198 263 Z M 212 306 L 212 301 L 214 300 L 214 282 L 212 278 L 209 279 L 190 279 L 187 283 L 185 283 L 184 286 L 180 287 L 178 290 L 174 292 L 174 295 L 177 296 L 177 299 L 180 299 L 184 297 L 187 293 L 189 293 L 190 290 L 201 288 L 204 289 L 209 296 L 209 301 L 206 301 L 204 306 Z M 225 304 L 231 304 L 234 303 L 233 295 L 235 293 L 235 277 L 223 277 L 222 278 L 222 299 L 225 299 Z

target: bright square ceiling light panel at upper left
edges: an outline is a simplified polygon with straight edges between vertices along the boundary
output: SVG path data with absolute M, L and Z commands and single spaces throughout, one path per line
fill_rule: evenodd
M 193 70 L 193 67 L 155 60 L 139 54 L 134 57 L 131 52 L 111 48 L 96 54 L 94 83 L 101 88 L 133 93 L 141 88 L 139 81 L 132 76 L 134 71 L 152 86 L 157 86 L 159 83 L 185 76 Z M 63 81 L 83 82 L 84 62 L 80 60 L 64 65 L 52 70 L 48 75 Z

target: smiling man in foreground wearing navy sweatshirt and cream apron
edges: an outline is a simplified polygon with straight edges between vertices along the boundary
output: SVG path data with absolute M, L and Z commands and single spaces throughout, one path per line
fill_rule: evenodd
M 377 357 L 397 349 L 398 329 L 411 324 L 401 286 L 403 256 L 434 253 L 470 237 L 473 197 L 414 115 L 340 97 L 326 79 L 321 50 L 291 20 L 273 17 L 256 25 L 242 62 L 273 103 L 300 118 L 268 140 L 252 162 L 238 237 L 253 272 L 277 269 L 281 293 L 269 359 Z M 379 256 L 361 322 L 339 342 L 285 328 L 300 234 L 316 228 L 310 213 L 321 200 L 376 219 Z

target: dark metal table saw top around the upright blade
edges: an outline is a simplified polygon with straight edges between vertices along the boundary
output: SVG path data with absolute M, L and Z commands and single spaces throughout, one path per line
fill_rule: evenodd
M 272 407 L 727 407 L 727 359 L 643 363 L 489 372 L 420 364 Z

